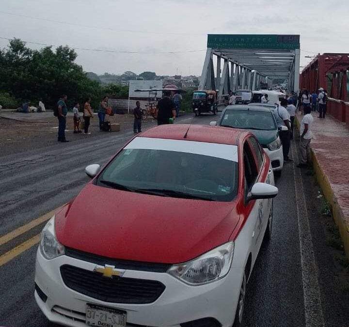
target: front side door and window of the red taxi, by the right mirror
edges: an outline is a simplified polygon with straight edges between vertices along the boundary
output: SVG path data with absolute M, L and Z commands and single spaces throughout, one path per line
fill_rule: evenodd
M 258 239 L 262 228 L 261 212 L 263 206 L 262 200 L 248 201 L 248 194 L 258 178 L 258 167 L 255 158 L 254 150 L 250 142 L 246 139 L 243 145 L 244 205 L 245 212 L 248 213 L 247 219 L 249 220 L 249 225 L 253 226 L 251 239 L 249 240 L 249 246 L 252 252 L 252 264 L 254 264 L 259 250 Z

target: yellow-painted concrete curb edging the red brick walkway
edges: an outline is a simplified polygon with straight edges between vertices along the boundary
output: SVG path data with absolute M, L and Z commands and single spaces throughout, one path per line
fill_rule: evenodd
M 299 118 L 296 116 L 295 119 L 295 126 L 297 129 L 300 127 L 300 121 Z M 311 143 L 310 143 L 311 144 Z M 331 187 L 331 183 L 324 173 L 324 171 L 321 169 L 321 166 L 319 164 L 319 161 L 317 159 L 317 155 L 314 152 L 314 150 L 311 148 L 311 158 L 313 162 L 313 168 L 317 177 L 317 182 L 320 185 L 322 192 L 326 198 L 326 200 L 330 203 L 333 213 L 333 218 L 336 223 L 336 225 L 339 228 L 339 233 L 341 235 L 344 249 L 346 252 L 346 255 L 349 259 L 349 221 L 347 221 L 339 203 L 338 200 L 333 192 L 333 189 Z

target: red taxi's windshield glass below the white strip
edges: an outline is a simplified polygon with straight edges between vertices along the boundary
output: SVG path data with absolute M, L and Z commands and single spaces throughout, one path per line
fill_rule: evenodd
M 238 163 L 188 152 L 123 149 L 96 184 L 159 196 L 227 202 L 237 195 Z

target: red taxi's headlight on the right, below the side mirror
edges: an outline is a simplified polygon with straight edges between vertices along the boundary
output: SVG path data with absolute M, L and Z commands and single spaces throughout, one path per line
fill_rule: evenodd
M 225 243 L 184 264 L 173 265 L 167 272 L 190 285 L 202 285 L 223 278 L 234 256 L 234 242 Z

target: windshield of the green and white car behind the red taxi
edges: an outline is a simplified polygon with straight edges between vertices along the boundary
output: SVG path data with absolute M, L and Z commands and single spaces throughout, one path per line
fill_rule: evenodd
M 221 125 L 257 130 L 276 129 L 275 120 L 270 111 L 225 110 Z

